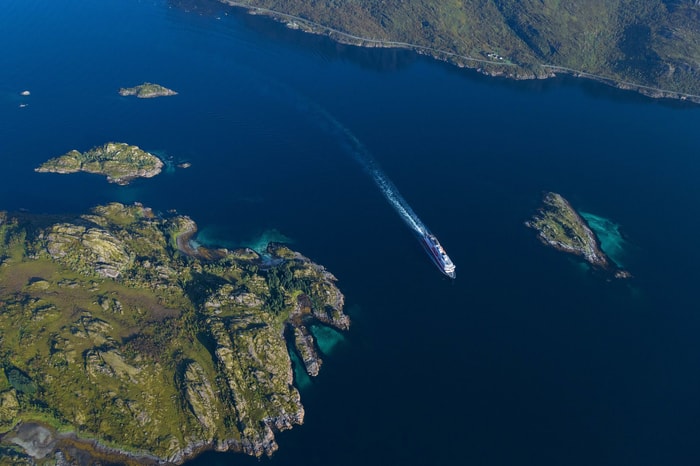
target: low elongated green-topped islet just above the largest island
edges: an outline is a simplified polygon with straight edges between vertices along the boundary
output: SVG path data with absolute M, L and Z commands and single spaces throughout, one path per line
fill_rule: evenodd
M 134 178 L 151 178 L 161 172 L 163 162 L 153 154 L 122 142 L 108 142 L 87 152 L 72 150 L 43 163 L 39 173 L 97 173 L 107 181 L 127 185 Z

